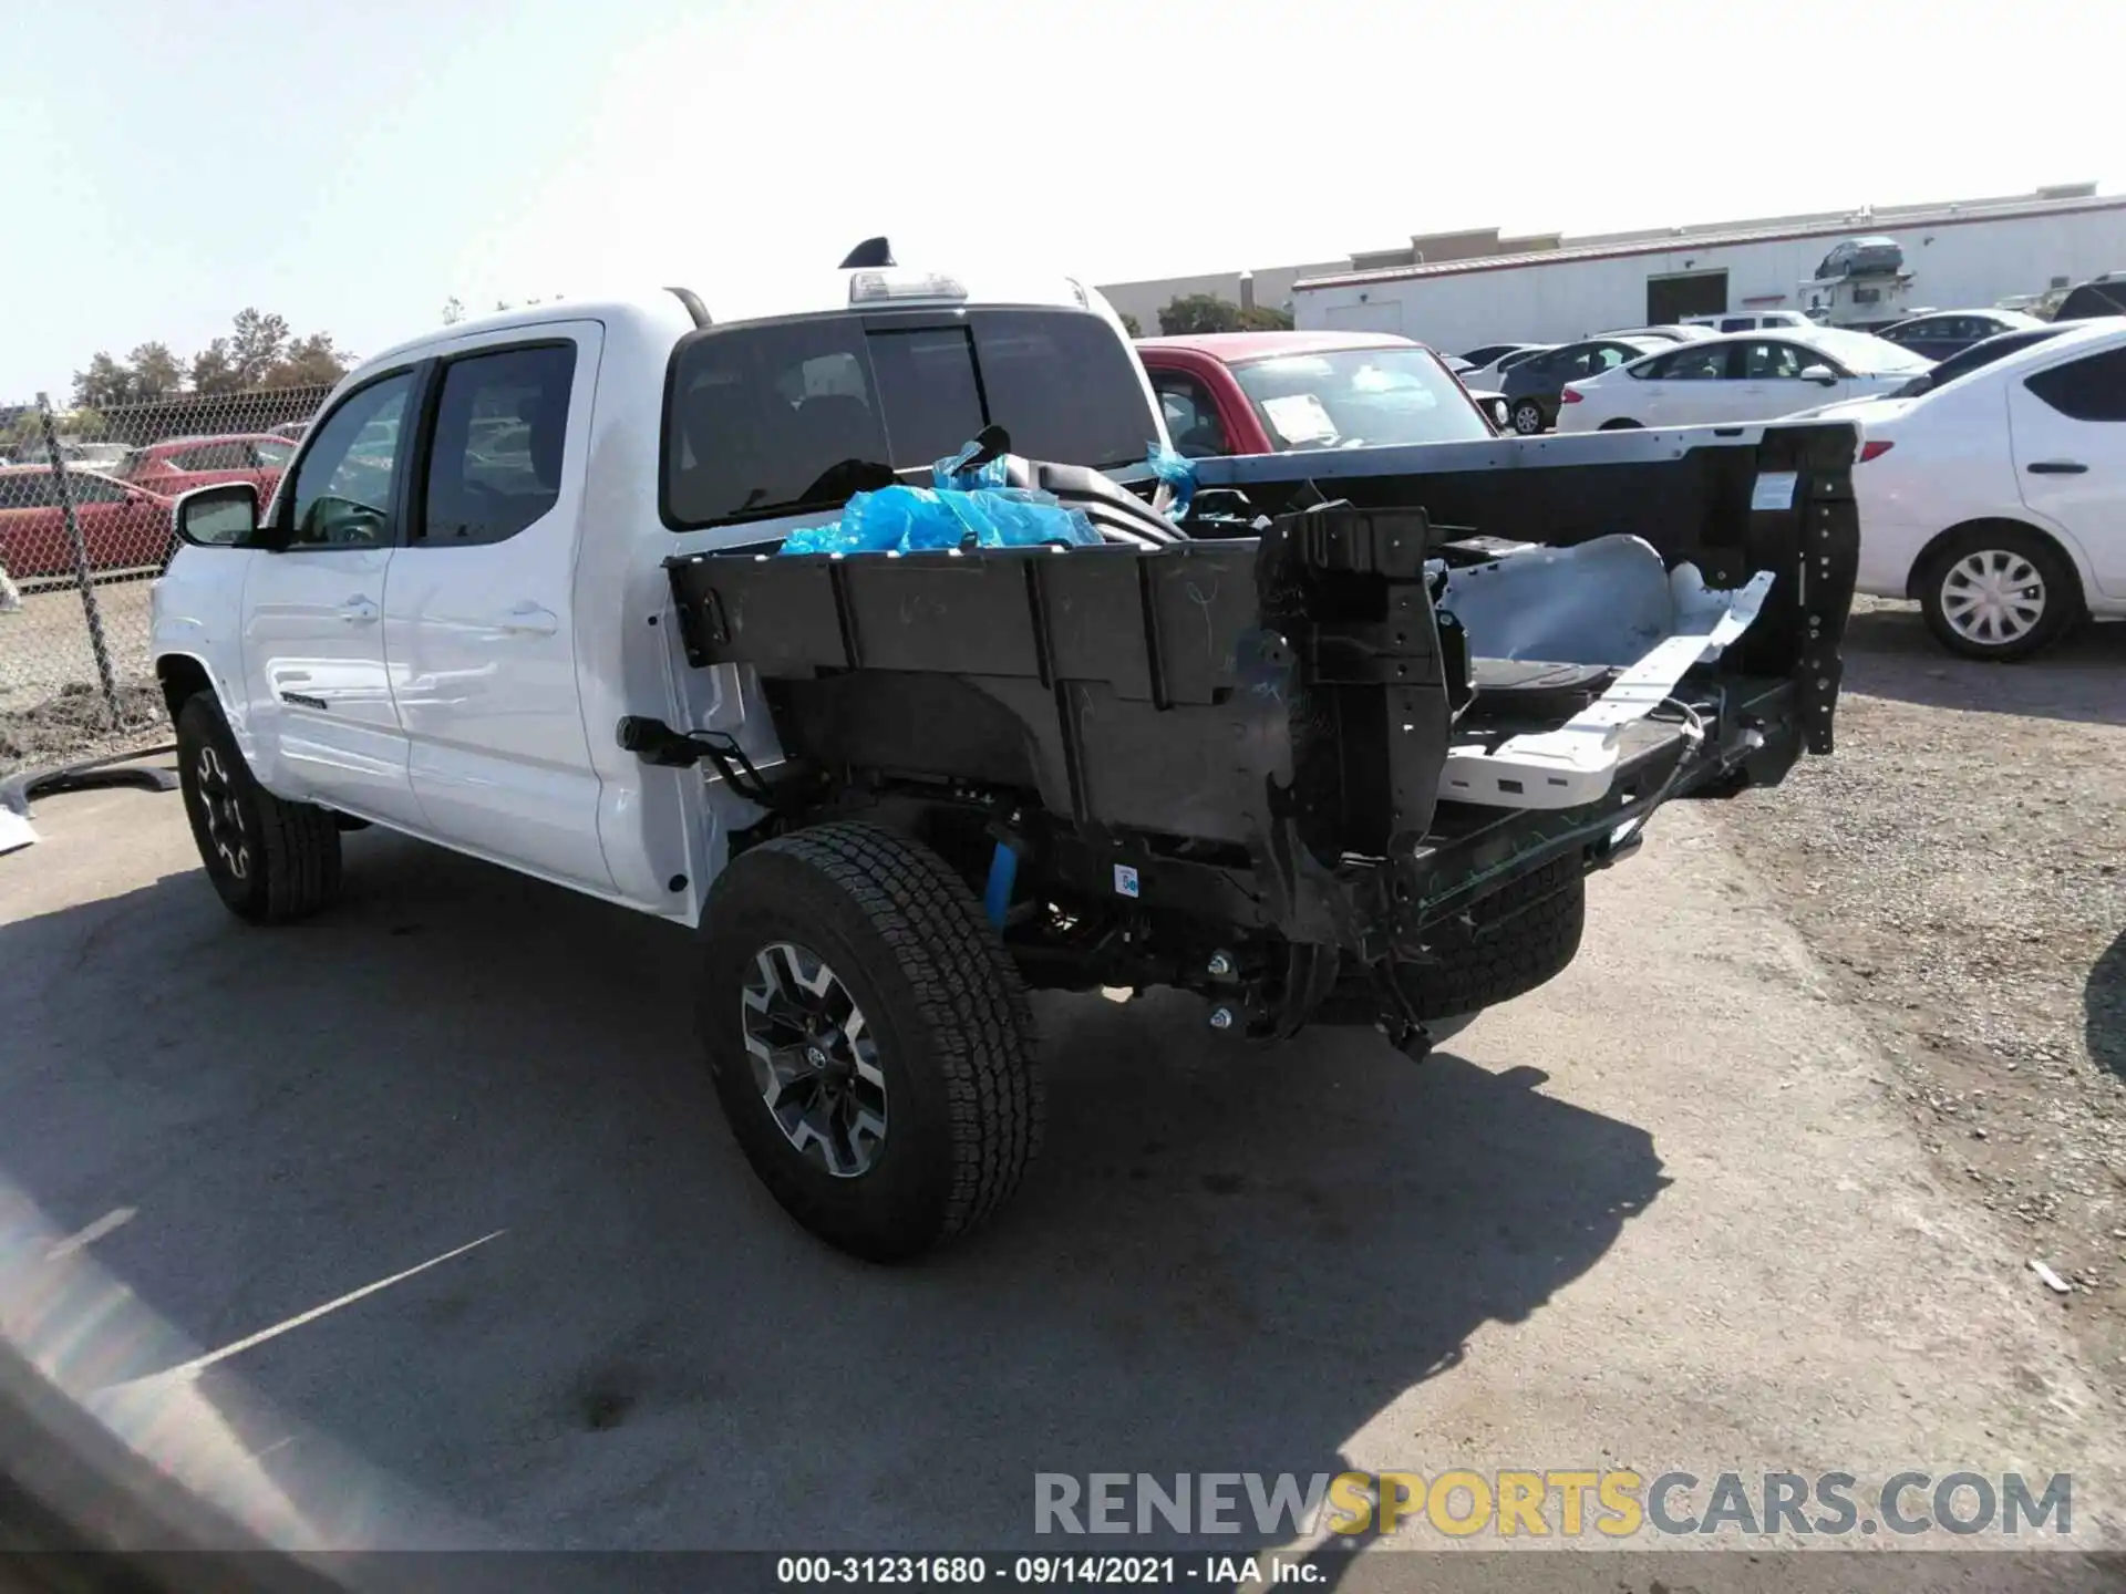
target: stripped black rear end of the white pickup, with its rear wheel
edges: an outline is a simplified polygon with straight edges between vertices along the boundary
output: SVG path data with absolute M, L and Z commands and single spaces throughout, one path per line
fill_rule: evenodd
M 1208 461 L 1174 540 L 674 559 L 687 663 L 774 729 L 629 731 L 757 814 L 704 920 L 721 1078 L 750 1078 L 716 1003 L 761 967 L 767 931 L 736 929 L 772 912 L 761 854 L 825 835 L 948 882 L 921 912 L 952 927 L 927 931 L 959 963 L 950 1054 L 991 1058 L 965 1099 L 1027 1135 L 1020 984 L 1178 986 L 1233 1037 L 1371 1024 L 1422 1058 L 1556 976 L 1586 876 L 1656 808 L 1830 752 L 1858 542 L 1845 427 L 1588 442 Z M 1076 502 L 1127 523 L 1112 497 Z M 748 999 L 831 961 L 808 956 Z M 967 1211 L 1031 1150 L 999 1146 Z M 901 1254 L 772 1143 L 755 1167 L 838 1243 Z

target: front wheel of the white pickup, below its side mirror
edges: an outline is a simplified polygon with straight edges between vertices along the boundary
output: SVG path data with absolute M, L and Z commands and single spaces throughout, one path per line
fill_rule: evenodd
M 332 814 L 283 801 L 253 778 L 213 693 L 176 710 L 176 784 L 200 863 L 232 914 L 285 925 L 340 895 Z

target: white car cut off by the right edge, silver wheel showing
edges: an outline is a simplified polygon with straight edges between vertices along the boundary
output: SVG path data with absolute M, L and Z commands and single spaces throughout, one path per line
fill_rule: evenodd
M 2126 317 L 2066 327 L 1860 427 L 1860 591 L 1916 597 L 1971 659 L 2126 618 Z

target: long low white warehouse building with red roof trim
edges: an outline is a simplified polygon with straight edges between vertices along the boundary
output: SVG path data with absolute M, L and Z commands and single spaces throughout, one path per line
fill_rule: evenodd
M 1841 240 L 1894 238 L 1907 312 L 2028 300 L 2126 268 L 2126 196 L 2075 183 L 2005 200 L 1882 206 L 1711 227 L 1543 238 L 1441 259 L 1354 255 L 1293 285 L 1301 327 L 1399 332 L 1441 349 L 1501 338 L 1567 342 L 1690 315 L 1805 310 L 1807 283 Z

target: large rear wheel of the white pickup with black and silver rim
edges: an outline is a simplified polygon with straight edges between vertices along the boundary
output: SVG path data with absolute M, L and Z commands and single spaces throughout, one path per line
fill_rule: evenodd
M 1025 984 L 967 884 L 876 825 L 736 859 L 702 914 L 699 1024 L 746 1163 L 874 1262 L 957 1239 L 1042 1139 Z

